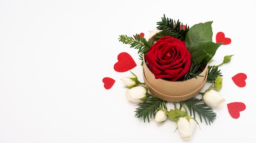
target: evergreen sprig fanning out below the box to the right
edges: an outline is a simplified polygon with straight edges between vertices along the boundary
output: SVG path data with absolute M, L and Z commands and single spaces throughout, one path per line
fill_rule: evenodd
M 209 125 L 211 125 L 211 122 L 213 123 L 213 121 L 216 119 L 216 113 L 213 112 L 213 109 L 211 107 L 204 104 L 204 102 L 200 103 L 201 101 L 202 99 L 191 98 L 189 100 L 184 101 L 183 103 L 186 104 L 186 106 L 188 107 L 191 116 L 193 113 L 193 116 L 195 118 L 195 112 L 196 112 L 200 117 L 201 123 L 202 123 L 202 117 L 203 117 L 206 124 L 208 120 Z

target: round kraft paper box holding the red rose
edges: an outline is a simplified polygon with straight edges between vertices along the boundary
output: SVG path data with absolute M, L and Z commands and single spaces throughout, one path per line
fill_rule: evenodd
M 155 79 L 154 74 L 144 64 L 143 78 L 149 91 L 158 98 L 169 102 L 180 102 L 193 98 L 202 90 L 207 80 L 207 67 L 197 78 L 185 81 L 168 81 Z

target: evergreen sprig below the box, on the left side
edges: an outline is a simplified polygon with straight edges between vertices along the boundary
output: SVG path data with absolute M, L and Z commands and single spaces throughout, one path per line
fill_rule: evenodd
M 149 97 L 145 100 L 145 102 L 139 104 L 138 108 L 136 108 L 135 111 L 135 117 L 140 118 L 143 117 L 144 122 L 146 121 L 146 118 L 148 119 L 148 122 L 152 117 L 154 117 L 154 112 L 159 107 L 163 107 L 165 101 L 160 100 L 159 98 L 155 97 Z

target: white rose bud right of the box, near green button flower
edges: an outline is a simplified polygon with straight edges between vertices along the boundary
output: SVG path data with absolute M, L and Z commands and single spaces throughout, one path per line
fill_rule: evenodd
M 215 90 L 206 91 L 202 97 L 205 104 L 211 108 L 221 107 L 225 103 L 225 99 L 222 95 Z

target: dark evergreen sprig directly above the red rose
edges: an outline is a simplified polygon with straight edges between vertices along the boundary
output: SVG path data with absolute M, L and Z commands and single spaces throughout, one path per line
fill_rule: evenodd
M 185 25 L 183 28 L 183 24 L 177 20 L 177 22 L 173 19 L 166 18 L 165 15 L 162 17 L 162 21 L 157 22 L 157 29 L 162 30 L 162 32 L 157 33 L 156 40 L 163 36 L 171 36 L 181 41 L 185 41 L 186 33 L 189 31 L 189 26 Z

